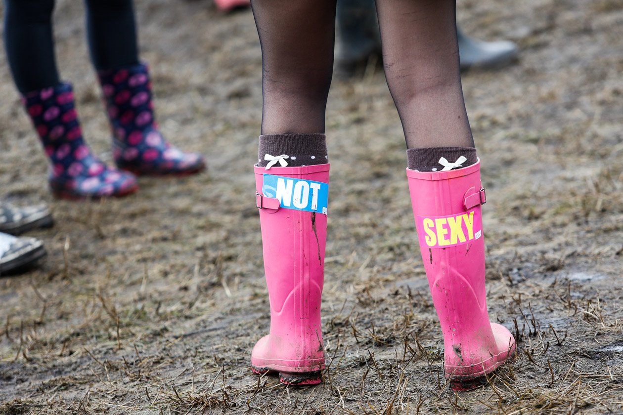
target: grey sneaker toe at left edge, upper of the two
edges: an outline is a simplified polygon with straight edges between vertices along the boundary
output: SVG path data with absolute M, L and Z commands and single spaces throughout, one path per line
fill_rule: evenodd
M 43 205 L 16 207 L 0 202 L 0 232 L 20 235 L 35 228 L 49 228 L 53 224 L 50 211 Z

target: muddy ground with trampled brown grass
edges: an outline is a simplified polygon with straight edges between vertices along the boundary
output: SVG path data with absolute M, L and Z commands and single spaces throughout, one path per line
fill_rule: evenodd
M 464 29 L 520 62 L 464 75 L 483 160 L 492 319 L 518 340 L 490 385 L 455 393 L 416 245 L 401 128 L 381 70 L 336 78 L 323 385 L 249 370 L 269 329 L 251 165 L 261 116 L 250 11 L 138 0 L 166 136 L 209 172 L 123 200 L 52 200 L 0 60 L 1 194 L 49 203 L 39 269 L 0 278 L 0 414 L 623 413 L 623 4 L 459 1 Z M 110 161 L 81 2 L 55 13 L 62 75 Z

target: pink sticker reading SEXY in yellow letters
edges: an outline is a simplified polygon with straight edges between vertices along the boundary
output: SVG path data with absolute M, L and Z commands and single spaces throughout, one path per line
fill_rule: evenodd
M 442 217 L 418 216 L 416 225 L 420 245 L 429 248 L 449 248 L 482 238 L 482 212 L 479 208 Z

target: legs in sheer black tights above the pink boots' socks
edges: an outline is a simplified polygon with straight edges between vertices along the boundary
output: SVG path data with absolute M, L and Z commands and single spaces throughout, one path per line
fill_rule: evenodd
M 336 0 L 251 0 L 262 47 L 262 134 L 325 133 Z M 383 64 L 408 148 L 473 147 L 455 0 L 376 0 Z

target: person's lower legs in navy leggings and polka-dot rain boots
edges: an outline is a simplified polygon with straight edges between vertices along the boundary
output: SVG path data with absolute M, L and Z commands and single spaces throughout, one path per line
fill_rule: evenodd
M 72 85 L 61 82 L 55 62 L 54 5 L 54 0 L 4 0 L 9 67 L 50 159 L 52 192 L 71 199 L 130 194 L 138 189 L 135 177 L 101 162 L 82 138 Z M 201 156 L 170 146 L 157 129 L 151 83 L 138 58 L 132 0 L 85 0 L 85 5 L 90 56 L 102 81 L 117 164 L 138 174 L 202 170 Z

